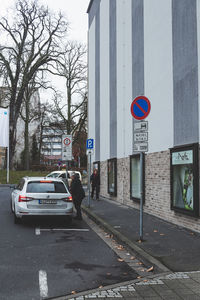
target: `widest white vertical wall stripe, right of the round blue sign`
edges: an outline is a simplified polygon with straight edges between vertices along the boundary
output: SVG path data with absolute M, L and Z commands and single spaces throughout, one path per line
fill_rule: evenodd
M 149 152 L 158 152 L 173 146 L 171 0 L 144 0 L 144 74 Z

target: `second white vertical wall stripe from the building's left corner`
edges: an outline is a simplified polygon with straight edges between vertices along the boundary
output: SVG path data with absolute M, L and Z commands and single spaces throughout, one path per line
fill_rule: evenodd
M 110 153 L 109 1 L 100 3 L 100 160 Z

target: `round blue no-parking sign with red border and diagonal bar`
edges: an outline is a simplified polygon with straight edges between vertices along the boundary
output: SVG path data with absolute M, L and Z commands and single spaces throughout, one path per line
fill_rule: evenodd
M 150 113 L 151 103 L 145 96 L 136 97 L 131 104 L 131 114 L 136 120 L 144 120 Z

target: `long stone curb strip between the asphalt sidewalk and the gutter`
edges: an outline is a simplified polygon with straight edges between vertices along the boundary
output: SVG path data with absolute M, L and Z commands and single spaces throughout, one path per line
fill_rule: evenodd
M 127 245 L 130 249 L 135 251 L 137 254 L 139 254 L 141 257 L 145 258 L 147 261 L 151 262 L 153 265 L 157 266 L 158 269 L 160 269 L 162 272 L 172 272 L 170 269 L 168 269 L 164 264 L 162 264 L 159 260 L 157 260 L 155 257 L 144 251 L 142 248 L 140 248 L 138 245 L 136 245 L 133 241 L 130 241 L 127 237 L 125 237 L 121 232 L 114 229 L 110 224 L 108 224 L 106 221 L 98 217 L 94 212 L 92 212 L 88 207 L 82 205 L 83 211 L 88 215 L 90 219 L 92 219 L 96 224 L 103 227 L 105 230 L 109 231 L 110 233 L 115 236 L 115 238 Z

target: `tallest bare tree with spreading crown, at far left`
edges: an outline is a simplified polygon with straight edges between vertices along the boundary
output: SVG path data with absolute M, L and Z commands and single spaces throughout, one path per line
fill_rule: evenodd
M 16 123 L 27 86 L 37 73 L 50 70 L 62 54 L 68 24 L 36 1 L 17 0 L 12 21 L 0 20 L 0 70 L 10 90 L 10 157 L 16 145 Z M 3 41 L 6 38 L 6 42 Z M 43 73 L 41 73 L 43 74 Z M 42 76 L 42 75 L 41 75 Z

